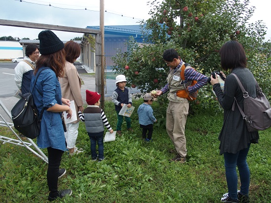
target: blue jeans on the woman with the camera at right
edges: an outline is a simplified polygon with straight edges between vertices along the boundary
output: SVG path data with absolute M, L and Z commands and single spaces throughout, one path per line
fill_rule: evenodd
M 240 193 L 242 195 L 248 195 L 249 182 L 250 182 L 250 171 L 246 162 L 247 153 L 250 144 L 247 148 L 240 150 L 236 154 L 224 153 L 226 179 L 228 185 L 229 197 L 237 199 L 237 171 L 236 166 L 239 170 L 240 176 Z

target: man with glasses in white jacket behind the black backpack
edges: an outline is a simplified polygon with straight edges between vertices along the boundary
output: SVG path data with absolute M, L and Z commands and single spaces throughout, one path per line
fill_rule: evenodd
M 22 94 L 30 92 L 30 83 L 32 80 L 35 63 L 39 58 L 39 49 L 35 44 L 29 44 L 26 47 L 26 56 L 23 61 L 15 67 L 15 83 Z

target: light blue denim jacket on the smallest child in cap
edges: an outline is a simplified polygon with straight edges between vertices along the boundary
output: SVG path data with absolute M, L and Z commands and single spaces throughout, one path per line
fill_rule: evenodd
M 139 124 L 143 126 L 153 124 L 156 121 L 156 118 L 153 115 L 152 107 L 149 104 L 142 103 L 137 109 L 137 114 Z

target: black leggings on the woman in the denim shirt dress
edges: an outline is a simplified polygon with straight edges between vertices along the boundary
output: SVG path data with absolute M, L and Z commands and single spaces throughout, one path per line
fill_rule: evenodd
M 48 151 L 47 185 L 50 191 L 49 196 L 53 198 L 59 196 L 58 175 L 59 175 L 59 166 L 64 151 L 54 149 L 52 147 L 48 147 L 47 151 Z

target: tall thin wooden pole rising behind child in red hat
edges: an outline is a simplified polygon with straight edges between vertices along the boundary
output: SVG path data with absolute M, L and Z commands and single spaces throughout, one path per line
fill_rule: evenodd
M 104 110 L 104 0 L 100 0 L 100 30 L 102 32 L 101 108 Z

